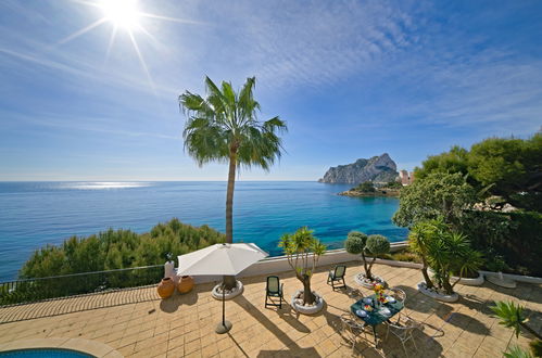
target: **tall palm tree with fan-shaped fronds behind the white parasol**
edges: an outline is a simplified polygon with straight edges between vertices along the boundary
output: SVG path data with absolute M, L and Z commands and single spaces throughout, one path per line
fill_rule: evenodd
M 229 163 L 226 193 L 226 242 L 234 242 L 234 190 L 239 167 L 262 167 L 268 170 L 280 158 L 282 141 L 278 132 L 288 130 L 278 116 L 257 120 L 260 103 L 254 100 L 255 77 L 248 78 L 236 93 L 230 82 L 218 88 L 205 77 L 206 97 L 186 91 L 179 106 L 187 116 L 182 137 L 185 150 L 202 166 L 210 162 Z M 227 282 L 226 282 L 227 281 Z M 235 279 L 225 278 L 228 289 Z

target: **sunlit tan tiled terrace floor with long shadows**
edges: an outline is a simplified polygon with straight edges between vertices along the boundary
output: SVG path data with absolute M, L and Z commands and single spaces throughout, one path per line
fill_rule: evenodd
M 226 303 L 227 319 L 234 323 L 228 334 L 214 332 L 222 303 L 211 297 L 211 284 L 202 284 L 190 294 L 176 294 L 166 301 L 160 301 L 154 289 L 139 289 L 2 308 L 0 322 L 24 320 L 0 324 L 0 345 L 24 338 L 81 337 L 137 357 L 348 357 L 352 349 L 345 341 L 340 315 L 355 302 L 357 290 L 370 294 L 353 282 L 354 273 L 362 269 L 358 263 L 348 266 L 349 289 L 343 291 L 333 292 L 326 284 L 329 268 L 315 273 L 313 290 L 323 294 L 327 305 L 313 317 L 298 317 L 288 304 L 282 309 L 264 308 L 265 278 L 253 277 L 242 280 L 245 290 L 241 296 Z M 421 279 L 418 270 L 385 265 L 375 265 L 374 270 L 390 286 L 407 293 L 408 314 L 426 323 L 424 331 L 415 334 L 418 350 L 407 343 L 411 357 L 502 357 L 508 345 L 527 347 L 529 337 L 516 338 L 512 330 L 491 317 L 488 307 L 493 301 L 514 301 L 526 306 L 530 324 L 542 331 L 540 285 L 519 284 L 516 290 L 490 283 L 480 287 L 457 285 L 459 302 L 444 304 L 415 290 Z M 285 296 L 291 297 L 301 283 L 289 272 L 280 277 Z M 31 318 L 33 315 L 49 317 Z M 385 328 L 378 331 L 383 337 Z M 356 349 L 357 355 L 366 357 L 404 357 L 400 342 L 392 335 L 377 348 L 362 340 Z

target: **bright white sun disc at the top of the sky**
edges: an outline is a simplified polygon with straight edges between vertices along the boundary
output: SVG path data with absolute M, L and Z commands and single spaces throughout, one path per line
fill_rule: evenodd
M 104 18 L 116 27 L 126 30 L 139 27 L 141 12 L 137 0 L 101 0 L 99 7 L 103 11 Z

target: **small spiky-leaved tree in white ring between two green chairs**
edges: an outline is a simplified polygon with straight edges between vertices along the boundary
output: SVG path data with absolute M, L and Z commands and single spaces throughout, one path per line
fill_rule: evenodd
M 292 296 L 292 307 L 300 314 L 316 314 L 324 307 L 324 298 L 311 290 L 311 278 L 318 258 L 326 252 L 326 246 L 313 235 L 313 230 L 303 227 L 294 233 L 286 233 L 280 238 L 279 247 L 282 247 L 288 264 L 295 272 L 295 277 L 303 284 Z

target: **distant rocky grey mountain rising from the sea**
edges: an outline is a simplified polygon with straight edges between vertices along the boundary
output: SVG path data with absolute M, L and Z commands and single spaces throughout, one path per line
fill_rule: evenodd
M 369 159 L 357 159 L 355 163 L 329 168 L 319 182 L 337 182 L 358 184 L 365 181 L 390 182 L 399 176 L 398 166 L 388 153 Z

